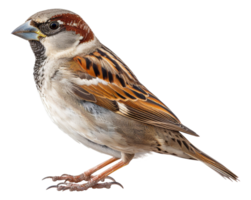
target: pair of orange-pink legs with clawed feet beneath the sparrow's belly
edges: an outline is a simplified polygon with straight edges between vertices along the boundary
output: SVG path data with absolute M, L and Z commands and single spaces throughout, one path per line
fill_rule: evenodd
M 109 167 L 112 163 L 114 164 Z M 124 189 L 123 185 L 111 175 L 127 167 L 129 163 L 130 161 L 124 162 L 118 158 L 107 158 L 79 174 L 46 175 L 42 178 L 42 182 L 51 180 L 52 183 L 56 183 L 47 186 L 46 190 L 55 188 L 58 192 L 86 192 L 90 189 L 109 190 L 112 186 Z

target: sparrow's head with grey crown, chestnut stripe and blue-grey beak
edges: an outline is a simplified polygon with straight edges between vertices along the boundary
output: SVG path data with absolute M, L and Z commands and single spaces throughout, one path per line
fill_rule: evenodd
M 10 34 L 31 46 L 42 45 L 46 57 L 58 58 L 80 54 L 96 39 L 91 26 L 78 12 L 59 7 L 35 11 Z

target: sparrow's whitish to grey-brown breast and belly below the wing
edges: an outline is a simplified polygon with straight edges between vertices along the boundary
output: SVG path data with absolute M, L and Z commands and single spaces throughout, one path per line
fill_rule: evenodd
M 103 155 L 120 157 L 121 152 L 147 151 L 142 147 L 152 142 L 148 126 L 94 103 L 77 100 L 66 92 L 70 89 L 63 84 L 66 82 L 45 78 L 38 92 L 46 116 L 59 132 L 76 144 Z

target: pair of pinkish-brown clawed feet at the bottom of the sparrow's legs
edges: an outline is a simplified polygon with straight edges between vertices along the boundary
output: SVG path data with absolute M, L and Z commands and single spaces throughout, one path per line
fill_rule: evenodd
M 84 193 L 89 190 L 111 190 L 112 187 L 118 187 L 121 190 L 124 190 L 124 185 L 115 179 L 114 176 L 107 176 L 99 182 L 93 181 L 92 178 L 95 177 L 95 174 L 91 177 L 85 177 L 84 173 L 71 174 L 71 173 L 62 173 L 62 174 L 53 174 L 45 175 L 42 177 L 41 181 L 51 180 L 52 184 L 46 186 L 45 191 L 56 190 L 58 193 Z

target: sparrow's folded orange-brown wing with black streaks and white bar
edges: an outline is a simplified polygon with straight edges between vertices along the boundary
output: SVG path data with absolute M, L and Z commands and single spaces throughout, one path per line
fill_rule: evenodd
M 83 84 L 74 84 L 73 92 L 81 99 L 146 124 L 200 137 L 199 133 L 183 124 L 111 49 L 101 47 L 73 60 L 71 70 L 78 78 L 86 80 Z

